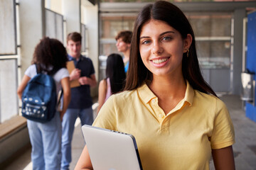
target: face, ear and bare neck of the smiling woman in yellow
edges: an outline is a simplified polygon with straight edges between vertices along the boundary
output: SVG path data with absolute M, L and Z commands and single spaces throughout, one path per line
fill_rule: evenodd
M 139 40 L 142 62 L 152 74 L 147 85 L 167 114 L 185 95 L 182 59 L 191 45 L 191 35 L 183 39 L 181 33 L 164 21 L 151 19 L 142 26 Z

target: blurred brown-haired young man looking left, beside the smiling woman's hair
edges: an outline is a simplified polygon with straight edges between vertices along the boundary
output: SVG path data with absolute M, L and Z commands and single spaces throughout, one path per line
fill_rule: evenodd
M 117 40 L 116 46 L 119 52 L 122 52 L 123 62 L 124 62 L 124 72 L 127 72 L 129 67 L 129 53 L 131 47 L 131 40 L 132 40 L 132 31 L 129 30 L 122 30 L 120 31 L 117 36 L 115 37 Z

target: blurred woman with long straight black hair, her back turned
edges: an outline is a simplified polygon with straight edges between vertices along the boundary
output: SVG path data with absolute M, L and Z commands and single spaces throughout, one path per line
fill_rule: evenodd
M 124 88 L 126 74 L 124 72 L 124 62 L 122 56 L 111 54 L 107 57 L 106 78 L 99 84 L 99 96 L 97 113 L 102 105 L 112 94 L 117 94 Z

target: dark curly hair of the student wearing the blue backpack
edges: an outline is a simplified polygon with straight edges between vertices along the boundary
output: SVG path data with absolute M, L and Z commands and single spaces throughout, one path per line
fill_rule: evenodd
M 68 55 L 63 43 L 46 37 L 36 45 L 31 64 L 36 64 L 39 72 L 44 71 L 50 74 L 65 68 L 67 61 Z M 50 67 L 53 69 L 49 71 L 48 68 Z

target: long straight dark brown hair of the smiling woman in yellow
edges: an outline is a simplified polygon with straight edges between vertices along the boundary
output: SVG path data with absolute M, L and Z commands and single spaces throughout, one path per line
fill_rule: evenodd
M 152 79 L 152 73 L 144 66 L 139 53 L 139 37 L 142 31 L 142 26 L 151 19 L 164 21 L 169 26 L 178 30 L 183 39 L 185 39 L 188 34 L 191 34 L 193 40 L 191 47 L 189 48 L 189 56 L 187 57 L 186 52 L 183 53 L 183 78 L 191 84 L 193 89 L 216 96 L 213 89 L 210 88 L 201 74 L 198 57 L 196 55 L 195 35 L 191 28 L 191 24 L 177 6 L 167 1 L 156 1 L 154 4 L 144 6 L 137 16 L 132 35 L 129 69 L 124 90 L 136 89 L 137 87 L 142 86 L 145 80 Z

